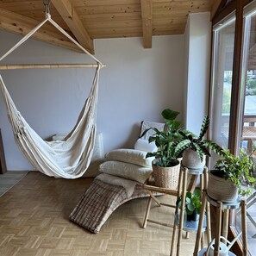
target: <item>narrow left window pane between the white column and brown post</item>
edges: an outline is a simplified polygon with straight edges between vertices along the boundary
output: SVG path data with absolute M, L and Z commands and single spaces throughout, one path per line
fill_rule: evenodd
M 234 19 L 214 31 L 214 61 L 211 97 L 211 140 L 228 148 L 228 129 L 234 56 Z M 210 159 L 211 167 L 215 156 Z

